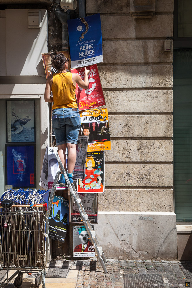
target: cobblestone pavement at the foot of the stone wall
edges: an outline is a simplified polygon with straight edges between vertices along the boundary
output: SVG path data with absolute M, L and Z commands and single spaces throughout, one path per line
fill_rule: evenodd
M 75 263 L 72 265 L 75 265 Z M 76 288 L 123 288 L 124 272 L 129 274 L 161 274 L 165 283 L 164 287 L 185 287 L 185 282 L 190 282 L 190 279 L 186 278 L 183 269 L 186 269 L 185 271 L 189 273 L 188 277 L 192 276 L 191 261 L 118 261 L 108 259 L 106 263 L 107 274 L 104 274 L 98 261 L 77 261 L 76 265 L 79 266 Z

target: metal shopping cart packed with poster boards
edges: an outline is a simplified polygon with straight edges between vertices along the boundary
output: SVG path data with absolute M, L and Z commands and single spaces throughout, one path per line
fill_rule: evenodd
M 39 287 L 42 283 L 45 288 L 47 213 L 47 204 L 0 202 L 0 270 L 7 270 L 7 278 L 0 283 L 0 288 L 8 285 L 17 274 L 14 285 L 20 287 L 24 273 L 37 273 L 35 285 Z M 9 270 L 17 271 L 8 278 Z

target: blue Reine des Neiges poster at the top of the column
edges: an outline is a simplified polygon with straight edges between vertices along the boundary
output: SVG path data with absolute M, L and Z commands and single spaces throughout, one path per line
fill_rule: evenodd
M 67 21 L 71 68 L 103 61 L 100 14 Z

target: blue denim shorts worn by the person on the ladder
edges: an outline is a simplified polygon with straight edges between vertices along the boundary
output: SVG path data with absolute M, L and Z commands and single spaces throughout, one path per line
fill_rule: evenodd
M 79 109 L 73 111 L 72 108 L 56 108 L 52 110 L 52 116 L 55 115 L 57 118 L 52 118 L 52 128 L 55 133 L 56 144 L 77 144 L 81 127 Z

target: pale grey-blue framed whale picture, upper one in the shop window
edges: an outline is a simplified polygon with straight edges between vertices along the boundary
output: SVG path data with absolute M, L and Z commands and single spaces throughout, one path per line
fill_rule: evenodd
M 35 142 L 35 101 L 6 101 L 7 143 Z

